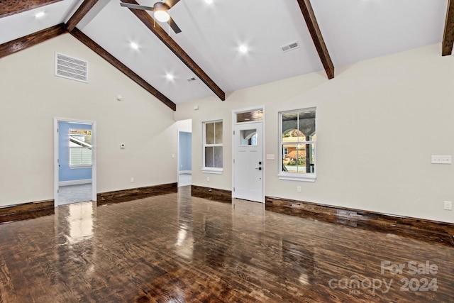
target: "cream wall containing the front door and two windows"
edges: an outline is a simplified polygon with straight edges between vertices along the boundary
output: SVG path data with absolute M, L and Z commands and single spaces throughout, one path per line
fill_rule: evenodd
M 265 153 L 278 155 L 278 112 L 317 107 L 317 180 L 279 180 L 278 160 L 265 160 L 265 194 L 321 204 L 454 223 L 454 57 L 441 45 L 200 99 L 178 106 L 193 119 L 194 185 L 231 190 L 231 111 L 265 104 Z M 199 110 L 194 111 L 198 105 Z M 224 172 L 201 172 L 201 122 L 224 121 Z M 277 158 L 277 157 L 276 157 Z M 297 186 L 301 185 L 301 192 Z

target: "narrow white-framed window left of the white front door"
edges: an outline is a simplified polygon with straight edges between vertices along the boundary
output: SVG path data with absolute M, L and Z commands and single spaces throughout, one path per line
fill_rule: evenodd
M 222 150 L 222 121 L 210 121 L 203 123 L 204 137 L 204 167 L 203 172 L 221 174 L 223 171 Z

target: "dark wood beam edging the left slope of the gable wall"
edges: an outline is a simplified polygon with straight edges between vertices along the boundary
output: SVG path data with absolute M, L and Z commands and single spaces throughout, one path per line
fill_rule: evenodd
M 61 35 L 62 33 L 65 33 L 65 23 L 45 28 L 43 31 L 38 31 L 30 35 L 26 35 L 25 37 L 3 43 L 0 45 L 0 58 L 16 53 L 19 50 L 30 48 L 31 46 L 42 43 L 45 40 L 55 38 L 57 35 Z

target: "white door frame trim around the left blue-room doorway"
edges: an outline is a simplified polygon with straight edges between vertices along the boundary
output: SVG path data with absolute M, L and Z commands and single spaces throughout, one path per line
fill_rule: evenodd
M 59 180 L 59 136 L 58 122 L 89 124 L 92 126 L 92 201 L 96 201 L 96 121 L 54 118 L 54 206 L 58 206 L 58 180 Z

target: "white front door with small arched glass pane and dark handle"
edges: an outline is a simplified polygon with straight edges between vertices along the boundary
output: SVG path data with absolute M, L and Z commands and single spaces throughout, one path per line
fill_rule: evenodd
M 263 202 L 263 123 L 238 123 L 233 133 L 233 197 Z

